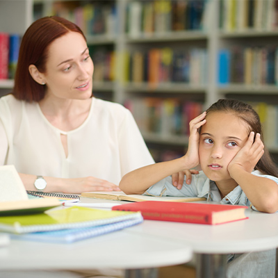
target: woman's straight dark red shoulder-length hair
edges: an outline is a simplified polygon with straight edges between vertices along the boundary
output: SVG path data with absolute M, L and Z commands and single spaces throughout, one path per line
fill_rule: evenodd
M 45 72 L 49 45 L 69 32 L 78 32 L 85 39 L 79 26 L 62 17 L 42 17 L 28 27 L 22 38 L 15 72 L 13 95 L 16 99 L 40 101 L 44 98 L 44 85 L 33 80 L 28 67 L 35 65 L 40 72 Z

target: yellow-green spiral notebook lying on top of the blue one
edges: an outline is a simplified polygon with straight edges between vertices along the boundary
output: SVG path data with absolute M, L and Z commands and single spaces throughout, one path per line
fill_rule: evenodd
M 51 209 L 31 215 L 11 215 L 0 217 L 0 231 L 12 234 L 25 234 L 38 231 L 57 231 L 97 227 L 124 220 L 142 218 L 141 213 L 129 211 L 104 211 L 95 208 L 72 206 Z

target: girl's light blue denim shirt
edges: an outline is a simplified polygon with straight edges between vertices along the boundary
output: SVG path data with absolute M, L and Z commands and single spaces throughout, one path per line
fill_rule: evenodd
M 278 184 L 277 177 L 261 174 L 258 170 L 254 170 L 252 174 L 272 179 Z M 238 204 L 240 206 L 250 206 L 256 210 L 240 186 L 236 186 L 234 190 L 232 190 L 222 199 L 215 182 L 208 179 L 203 171 L 199 171 L 199 174 L 193 174 L 190 184 L 186 184 L 186 177 L 184 177 L 183 186 L 180 190 L 172 185 L 172 177 L 169 176 L 148 188 L 144 195 L 205 197 L 208 201 L 220 202 L 221 204 Z

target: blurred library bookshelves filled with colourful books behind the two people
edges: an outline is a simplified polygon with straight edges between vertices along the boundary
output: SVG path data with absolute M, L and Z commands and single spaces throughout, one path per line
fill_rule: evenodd
M 0 0 L 0 96 L 24 31 L 47 15 L 81 27 L 93 94 L 129 108 L 157 162 L 182 156 L 188 122 L 224 97 L 252 104 L 278 163 L 278 1 Z

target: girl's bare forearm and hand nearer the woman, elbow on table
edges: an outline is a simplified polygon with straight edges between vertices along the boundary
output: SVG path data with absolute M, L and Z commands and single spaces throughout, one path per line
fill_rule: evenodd
M 205 124 L 202 113 L 190 122 L 190 137 L 188 140 L 188 152 L 181 158 L 172 161 L 165 161 L 141 167 L 124 175 L 120 181 L 120 189 L 126 194 L 142 194 L 161 179 L 170 176 L 173 173 L 181 172 L 193 168 L 199 164 L 199 132 L 200 126 Z

